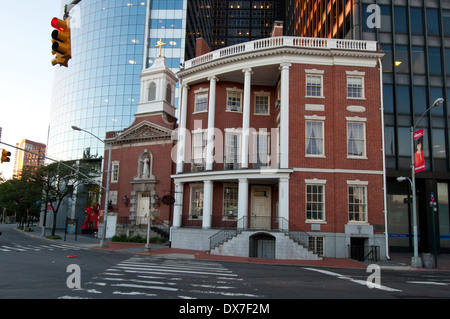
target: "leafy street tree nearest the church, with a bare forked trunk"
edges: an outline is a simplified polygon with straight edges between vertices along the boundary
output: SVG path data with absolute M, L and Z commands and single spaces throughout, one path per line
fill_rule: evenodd
M 71 168 L 69 168 L 69 167 Z M 27 172 L 26 178 L 39 185 L 43 200 L 51 205 L 54 218 L 51 235 L 55 235 L 56 218 L 61 204 L 73 196 L 73 191 L 82 184 L 91 184 L 100 175 L 99 167 L 90 160 L 51 163 Z

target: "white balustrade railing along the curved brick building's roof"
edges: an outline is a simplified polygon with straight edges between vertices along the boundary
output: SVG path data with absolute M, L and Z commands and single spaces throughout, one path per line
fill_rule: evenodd
M 270 48 L 296 47 L 310 49 L 339 49 L 355 51 L 377 51 L 376 41 L 341 40 L 325 38 L 298 38 L 298 37 L 273 37 L 236 44 L 220 50 L 216 50 L 184 63 L 184 68 L 188 69 L 203 63 L 211 62 L 220 58 L 230 57 L 241 53 L 256 52 Z

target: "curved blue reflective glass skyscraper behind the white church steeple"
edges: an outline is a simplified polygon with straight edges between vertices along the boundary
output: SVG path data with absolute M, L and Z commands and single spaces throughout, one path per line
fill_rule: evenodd
M 101 141 L 71 126 L 103 140 L 132 123 L 139 74 L 159 55 L 157 41 L 174 72 L 184 61 L 186 7 L 187 0 L 83 0 L 72 9 L 72 59 L 55 67 L 49 157 L 103 156 Z

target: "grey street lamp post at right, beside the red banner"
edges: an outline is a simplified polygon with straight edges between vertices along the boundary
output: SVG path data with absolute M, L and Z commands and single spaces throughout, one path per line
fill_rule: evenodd
M 411 183 L 411 192 L 412 192 L 412 206 L 413 206 L 413 232 L 414 232 L 414 256 L 411 258 L 411 267 L 414 268 L 422 268 L 422 260 L 419 258 L 419 242 L 417 235 L 417 207 L 416 207 L 416 172 L 415 172 L 415 162 L 414 162 L 414 131 L 416 127 L 419 125 L 420 121 L 422 121 L 423 117 L 433 108 L 438 105 L 444 103 L 443 98 L 438 98 L 434 101 L 433 105 L 431 105 L 425 113 L 417 121 L 416 125 L 411 126 L 411 179 L 407 177 L 398 177 L 397 180 L 399 182 L 408 179 Z M 414 117 L 413 117 L 414 123 Z

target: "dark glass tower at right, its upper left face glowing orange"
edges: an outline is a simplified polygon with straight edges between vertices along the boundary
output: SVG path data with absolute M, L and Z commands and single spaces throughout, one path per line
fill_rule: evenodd
M 434 253 L 436 247 L 438 253 L 449 252 L 450 1 L 288 0 L 287 12 L 288 35 L 379 42 L 385 53 L 389 244 L 402 249 L 413 245 L 410 185 L 397 177 L 411 176 L 410 128 L 417 125 L 425 133 L 426 165 L 416 174 L 419 251 Z M 438 98 L 444 104 L 427 112 Z

